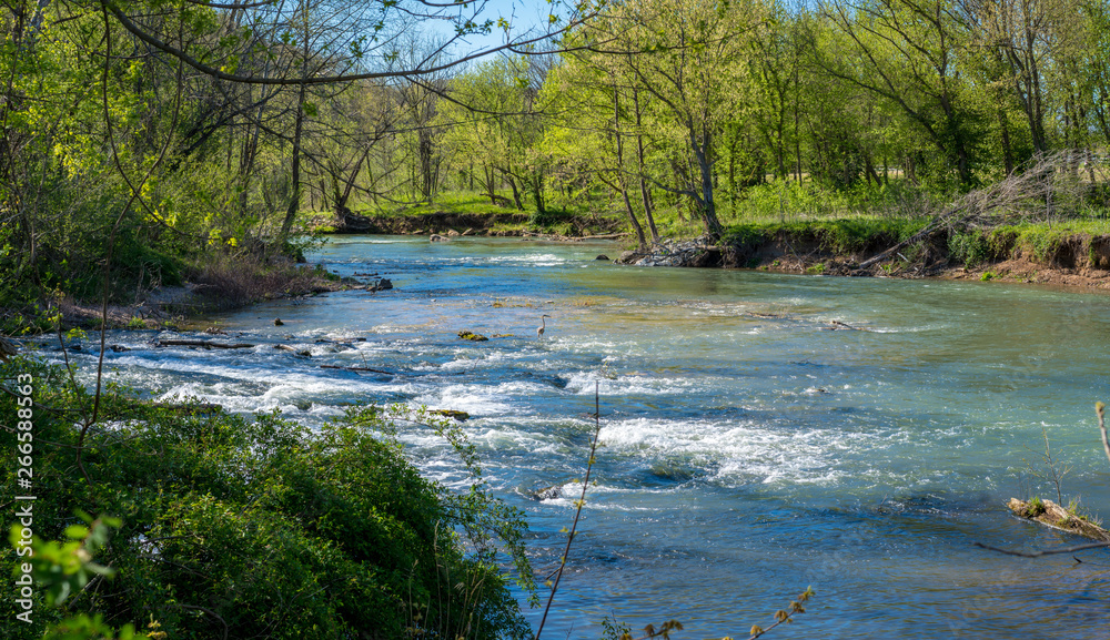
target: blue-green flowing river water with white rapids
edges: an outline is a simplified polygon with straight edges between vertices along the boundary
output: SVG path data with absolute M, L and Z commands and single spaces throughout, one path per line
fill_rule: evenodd
M 496 494 L 527 512 L 544 573 L 573 518 L 599 385 L 596 486 L 545 638 L 597 638 L 605 616 L 634 629 L 677 619 L 676 638 L 747 637 L 807 586 L 816 599 L 775 638 L 1110 637 L 1106 550 L 1077 562 L 972 546 L 1080 542 L 1003 506 L 1056 499 L 1046 433 L 1070 468 L 1064 499 L 1110 515 L 1093 412 L 1110 402 L 1110 296 L 593 260 L 617 251 L 339 237 L 312 261 L 396 288 L 210 318 L 259 343 L 250 351 L 113 335 L 132 351 L 107 363 L 159 397 L 280 407 L 310 424 L 351 403 L 467 412 L 464 430 Z M 472 343 L 462 329 L 512 337 Z M 93 355 L 80 356 L 85 370 Z M 462 480 L 426 429 L 402 437 L 430 477 Z M 535 499 L 546 487 L 557 489 Z M 534 626 L 539 614 L 527 611 Z

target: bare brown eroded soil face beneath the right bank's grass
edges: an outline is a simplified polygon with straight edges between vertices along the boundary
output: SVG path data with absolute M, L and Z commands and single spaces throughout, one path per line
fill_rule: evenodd
M 1002 280 L 1078 287 L 1110 288 L 1110 235 L 1072 234 L 1047 247 L 996 234 L 989 250 L 969 263 L 949 248 L 947 234 L 897 252 L 861 268 L 860 263 L 894 246 L 897 236 L 878 233 L 837 247 L 823 230 L 785 231 L 712 244 L 704 240 L 668 242 L 650 252 L 625 252 L 617 260 L 643 266 L 753 268 L 814 275 Z

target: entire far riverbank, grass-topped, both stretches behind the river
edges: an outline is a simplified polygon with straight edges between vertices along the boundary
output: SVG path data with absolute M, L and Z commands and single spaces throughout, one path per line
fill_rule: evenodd
M 692 228 L 688 225 L 677 219 L 670 220 L 673 216 L 664 216 L 663 235 L 677 236 L 677 240 L 667 240 L 647 250 L 626 251 L 616 262 L 642 266 L 998 280 L 1110 288 L 1110 222 L 1098 216 L 1074 216 L 1054 222 L 1002 224 L 993 221 L 977 225 L 981 221 L 969 224 L 966 216 L 957 215 L 961 207 L 981 212 L 999 206 L 997 194 L 991 190 L 983 193 L 980 200 L 990 201 L 986 205 L 978 201 L 968 204 L 973 200 L 969 195 L 937 215 L 908 216 L 884 211 L 818 219 L 757 216 L 761 222 L 727 226 L 718 242 L 689 237 Z M 546 225 L 537 225 L 537 222 Z M 311 219 L 306 227 L 332 233 L 426 235 L 432 241 L 462 236 L 516 236 L 562 242 L 632 237 L 627 220 L 616 215 L 558 214 L 537 220 L 535 214 L 525 212 L 476 210 L 416 210 L 379 215 L 325 213 Z M 885 252 L 888 254 L 878 257 Z

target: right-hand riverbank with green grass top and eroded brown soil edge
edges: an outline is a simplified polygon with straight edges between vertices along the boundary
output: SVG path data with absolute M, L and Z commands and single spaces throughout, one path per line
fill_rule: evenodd
M 926 219 L 737 225 L 719 243 L 670 241 L 617 262 L 642 266 L 751 268 L 774 273 L 938 277 L 1110 288 L 1110 234 L 1068 225 L 1022 225 L 911 237 Z M 867 264 L 871 262 L 871 264 Z

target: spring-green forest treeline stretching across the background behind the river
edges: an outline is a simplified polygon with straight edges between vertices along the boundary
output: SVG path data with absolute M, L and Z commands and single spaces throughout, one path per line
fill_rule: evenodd
M 537 224 L 618 213 L 643 246 L 660 211 L 719 237 L 768 183 L 780 207 L 905 204 L 1060 150 L 1093 183 L 1108 9 L 588 0 L 472 60 L 467 35 L 511 28 L 481 4 L 7 0 L 0 296 L 94 297 L 109 254 L 112 295 L 265 264 L 306 212 L 457 192 Z

